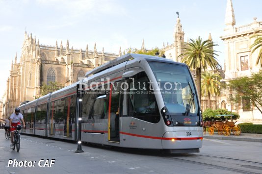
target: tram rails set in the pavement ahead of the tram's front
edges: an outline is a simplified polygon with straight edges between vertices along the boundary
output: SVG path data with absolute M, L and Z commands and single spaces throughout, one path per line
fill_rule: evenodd
M 175 159 L 176 161 L 180 161 L 180 162 L 192 163 L 192 164 L 197 164 L 197 165 L 204 165 L 204 166 L 209 166 L 209 167 L 212 167 L 212 168 L 221 169 L 221 170 L 225 170 L 225 171 L 232 171 L 232 172 L 236 172 L 236 173 L 240 173 L 240 174 L 262 174 L 261 172 L 251 172 L 249 170 L 244 170 L 246 168 L 252 169 L 252 170 L 262 170 L 262 167 L 258 167 L 258 166 L 249 166 L 249 165 L 235 164 L 232 167 L 225 167 L 225 166 L 221 166 L 221 165 L 210 164 L 210 163 L 207 163 L 207 162 L 199 162 L 199 161 L 195 161 L 195 160 L 182 159 L 183 157 L 197 157 L 197 156 L 216 158 L 216 159 L 219 158 L 219 159 L 226 159 L 226 160 L 235 160 L 237 162 L 245 162 L 245 163 L 248 162 L 248 163 L 253 163 L 253 164 L 258 164 L 258 165 L 262 164 L 260 162 L 240 160 L 240 159 L 229 158 L 229 157 L 219 157 L 219 156 L 212 156 L 212 155 L 204 155 L 204 154 L 186 154 L 185 153 L 185 154 L 183 154 L 183 156 L 176 156 L 176 157 L 175 156 L 169 156 L 169 157 L 172 158 L 172 159 Z M 244 169 L 237 169 L 236 167 L 244 168 Z M 254 168 L 257 168 L 257 169 L 254 169 Z

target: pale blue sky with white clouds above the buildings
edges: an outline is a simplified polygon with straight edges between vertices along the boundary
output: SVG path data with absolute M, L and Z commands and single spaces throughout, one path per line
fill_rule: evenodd
M 262 21 L 262 0 L 232 0 L 236 25 Z M 224 65 L 224 43 L 219 38 L 225 28 L 227 0 L 0 0 L 0 98 L 4 94 L 11 63 L 20 60 L 25 31 L 40 44 L 57 41 L 69 47 L 119 53 L 129 47 L 162 48 L 172 44 L 177 15 L 185 41 L 201 36 L 219 46 Z

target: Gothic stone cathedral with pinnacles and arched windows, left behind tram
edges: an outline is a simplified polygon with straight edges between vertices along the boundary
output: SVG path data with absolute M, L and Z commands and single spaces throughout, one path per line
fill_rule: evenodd
M 85 73 L 121 55 L 66 46 L 61 41 L 60 47 L 41 45 L 32 34 L 25 33 L 20 61 L 17 56 L 10 67 L 10 75 L 6 81 L 6 91 L 2 98 L 5 104 L 2 114 L 11 114 L 14 107 L 21 102 L 33 100 L 40 95 L 40 86 L 43 83 L 58 82 L 68 86 L 79 81 Z M 9 102 L 8 102 L 9 101 Z

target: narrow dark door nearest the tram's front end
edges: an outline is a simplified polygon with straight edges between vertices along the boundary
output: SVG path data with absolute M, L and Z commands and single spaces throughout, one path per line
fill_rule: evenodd
M 119 142 L 120 82 L 110 85 L 108 105 L 108 141 Z

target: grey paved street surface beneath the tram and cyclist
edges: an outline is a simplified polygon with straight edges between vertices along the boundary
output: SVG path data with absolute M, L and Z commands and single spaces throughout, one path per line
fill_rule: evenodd
M 262 174 L 259 142 L 204 139 L 200 153 L 190 154 L 94 145 L 75 153 L 74 143 L 21 137 L 17 152 L 0 129 L 0 174 Z

